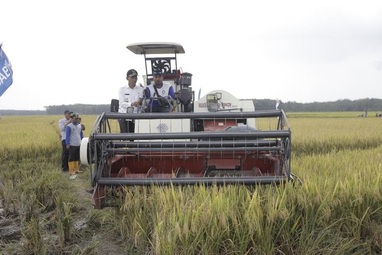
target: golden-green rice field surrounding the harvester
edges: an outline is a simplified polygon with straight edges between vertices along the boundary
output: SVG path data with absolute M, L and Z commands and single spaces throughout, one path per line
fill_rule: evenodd
M 3 116 L 0 253 L 382 253 L 382 118 L 356 115 L 287 115 L 301 186 L 125 188 L 102 210 L 60 170 L 61 116 Z

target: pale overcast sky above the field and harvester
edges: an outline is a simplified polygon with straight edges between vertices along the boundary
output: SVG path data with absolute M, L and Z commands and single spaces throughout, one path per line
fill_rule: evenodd
M 0 109 L 109 104 L 136 42 L 176 42 L 202 95 L 312 102 L 382 98 L 382 1 L 5 1 L 13 84 Z M 142 77 L 141 77 L 142 78 Z M 143 81 L 141 81 L 143 83 Z

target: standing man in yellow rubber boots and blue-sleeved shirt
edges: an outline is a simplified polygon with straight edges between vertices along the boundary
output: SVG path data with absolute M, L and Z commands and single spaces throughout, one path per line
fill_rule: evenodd
M 84 138 L 84 133 L 82 132 L 82 126 L 79 121 L 78 113 L 73 113 L 71 116 L 72 122 L 66 126 L 66 138 L 65 144 L 66 149 L 69 152 L 69 173 L 74 175 L 76 173 L 81 173 L 83 171 L 79 170 L 78 160 L 79 160 L 79 145 L 81 140 Z

